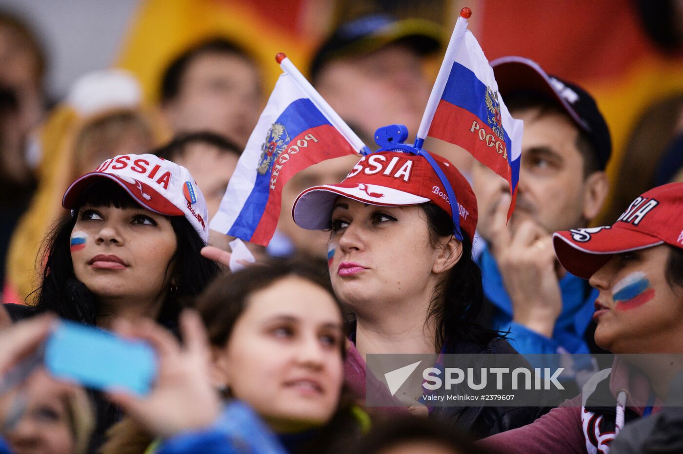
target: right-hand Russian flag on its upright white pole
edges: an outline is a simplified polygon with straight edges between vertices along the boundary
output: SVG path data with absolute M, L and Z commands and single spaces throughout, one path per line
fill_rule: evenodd
M 418 138 L 458 145 L 505 178 L 512 194 L 509 218 L 517 195 L 523 122 L 510 116 L 484 51 L 466 29 L 466 17 L 461 14 L 456 23 Z

